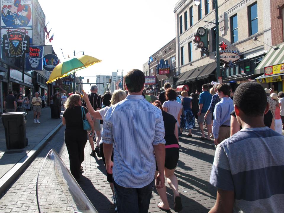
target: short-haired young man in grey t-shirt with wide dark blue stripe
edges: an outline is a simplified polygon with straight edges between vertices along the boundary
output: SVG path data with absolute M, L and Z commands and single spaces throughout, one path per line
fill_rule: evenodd
M 284 137 L 264 125 L 269 110 L 264 88 L 241 84 L 234 104 L 242 129 L 216 147 L 210 183 L 217 199 L 209 213 L 283 212 Z

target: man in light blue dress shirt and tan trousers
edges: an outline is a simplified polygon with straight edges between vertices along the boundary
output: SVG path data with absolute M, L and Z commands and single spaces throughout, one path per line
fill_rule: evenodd
M 233 100 L 230 98 L 229 85 L 222 83 L 217 86 L 218 96 L 221 99 L 215 105 L 212 133 L 214 144 L 217 146 L 230 137 L 231 112 L 234 110 Z

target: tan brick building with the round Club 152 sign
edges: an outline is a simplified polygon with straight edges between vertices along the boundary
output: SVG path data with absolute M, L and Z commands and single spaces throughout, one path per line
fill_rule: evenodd
M 176 69 L 180 73 L 177 84 L 188 85 L 191 92 L 201 91 L 202 84 L 216 81 L 215 54 L 219 47 L 216 47 L 215 6 L 210 0 L 201 0 L 199 6 L 191 0 L 180 0 L 174 13 Z M 235 90 L 241 82 L 260 74 L 255 73 L 255 68 L 270 49 L 270 1 L 219 0 L 218 14 L 219 41 L 226 43 L 228 50 L 238 51 L 241 57 L 233 66 L 220 64 L 219 76 Z M 208 56 L 193 41 L 199 27 L 207 31 Z

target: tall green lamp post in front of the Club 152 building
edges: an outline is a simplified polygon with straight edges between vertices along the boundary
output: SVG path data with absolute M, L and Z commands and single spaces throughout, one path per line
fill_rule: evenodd
M 220 76 L 220 51 L 219 51 L 219 20 L 218 20 L 218 0 L 211 0 L 215 4 L 215 34 L 216 34 L 216 78 L 218 82 L 218 76 Z M 200 0 L 194 0 L 195 5 L 200 4 Z M 212 23 L 212 22 L 210 22 Z

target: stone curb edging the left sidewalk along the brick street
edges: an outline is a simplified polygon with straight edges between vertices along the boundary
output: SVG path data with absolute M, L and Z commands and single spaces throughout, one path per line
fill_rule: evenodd
M 18 178 L 25 168 L 35 159 L 37 154 L 46 146 L 49 140 L 62 127 L 62 122 L 59 123 L 51 132 L 46 135 L 32 150 L 30 150 L 22 159 L 17 162 L 0 179 L 0 196 L 9 188 L 9 186 Z

